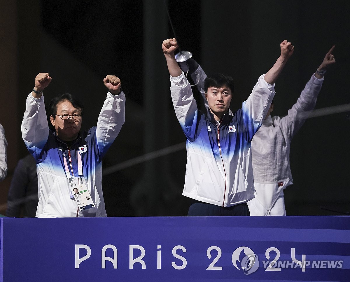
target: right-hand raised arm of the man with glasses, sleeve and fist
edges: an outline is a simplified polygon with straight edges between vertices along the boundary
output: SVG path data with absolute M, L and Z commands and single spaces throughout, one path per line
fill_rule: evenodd
M 107 98 L 97 121 L 96 139 L 100 156 L 103 157 L 125 122 L 125 94 L 121 82 L 115 75 L 107 75 L 103 80 L 108 88 Z

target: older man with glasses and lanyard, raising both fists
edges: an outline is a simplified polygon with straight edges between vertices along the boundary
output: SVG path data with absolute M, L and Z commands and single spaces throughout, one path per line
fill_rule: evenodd
M 71 94 L 50 101 L 49 130 L 43 90 L 48 73 L 39 73 L 27 97 L 22 137 L 37 164 L 39 203 L 36 217 L 106 217 L 102 193 L 102 158 L 125 121 L 120 79 L 107 75 L 109 89 L 97 126 L 80 131 L 83 105 Z M 76 191 L 79 193 L 76 193 Z

